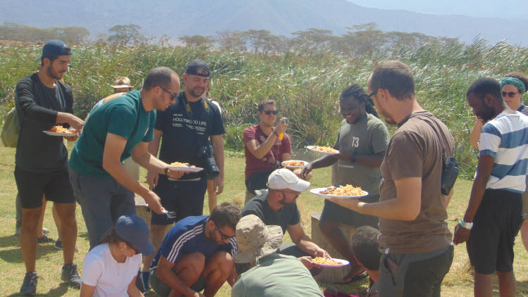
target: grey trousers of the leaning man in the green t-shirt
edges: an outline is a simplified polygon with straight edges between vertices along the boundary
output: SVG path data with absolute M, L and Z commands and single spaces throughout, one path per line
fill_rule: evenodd
M 90 249 L 121 215 L 136 213 L 134 193 L 113 178 L 90 177 L 70 168 L 70 182 L 82 210 Z

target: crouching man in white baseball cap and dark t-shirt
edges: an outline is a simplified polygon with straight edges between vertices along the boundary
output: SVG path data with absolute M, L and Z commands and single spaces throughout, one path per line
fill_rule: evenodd
M 304 255 L 329 258 L 329 254 L 315 244 L 301 227 L 301 214 L 295 201 L 308 187 L 310 182 L 298 178 L 291 170 L 277 169 L 268 177 L 268 190 L 251 199 L 242 209 L 242 216 L 253 214 L 265 225 L 279 225 L 282 234 L 288 231 L 294 244 L 282 244 L 279 253 L 296 256 L 309 270 L 312 270 L 317 265 L 309 258 L 302 258 Z

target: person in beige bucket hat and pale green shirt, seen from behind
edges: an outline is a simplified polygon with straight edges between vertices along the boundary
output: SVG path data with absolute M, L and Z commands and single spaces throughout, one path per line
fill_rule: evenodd
M 310 272 L 296 258 L 275 253 L 282 241 L 280 226 L 265 225 L 256 215 L 237 224 L 239 251 L 235 263 L 247 263 L 231 296 L 322 296 Z

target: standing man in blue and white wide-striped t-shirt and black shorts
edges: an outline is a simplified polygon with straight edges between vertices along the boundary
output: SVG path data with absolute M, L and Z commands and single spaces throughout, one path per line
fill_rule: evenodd
M 475 270 L 475 296 L 491 296 L 494 272 L 501 296 L 515 296 L 513 243 L 522 223 L 528 117 L 505 106 L 501 85 L 494 79 L 476 80 L 466 96 L 474 115 L 486 124 L 480 134 L 470 202 L 455 227 L 453 242 L 467 241 L 467 254 Z

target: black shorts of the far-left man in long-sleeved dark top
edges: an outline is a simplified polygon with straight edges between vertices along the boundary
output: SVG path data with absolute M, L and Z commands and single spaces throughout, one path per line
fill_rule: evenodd
M 22 208 L 39 208 L 42 195 L 55 203 L 75 203 L 68 168 L 52 172 L 30 172 L 15 167 L 15 180 Z

